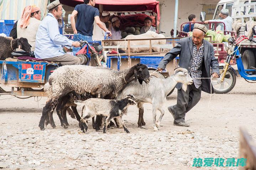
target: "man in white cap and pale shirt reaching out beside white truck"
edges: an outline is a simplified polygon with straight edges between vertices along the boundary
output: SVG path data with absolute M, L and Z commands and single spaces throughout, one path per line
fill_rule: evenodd
M 212 19 L 208 21 L 204 21 L 205 24 L 208 24 L 208 22 L 224 22 L 226 30 L 225 31 L 232 31 L 232 23 L 233 19 L 229 16 L 229 10 L 228 9 L 222 9 L 219 13 L 219 17 L 221 19 Z M 223 24 L 219 24 L 220 30 L 224 31 Z M 219 27 L 218 26 L 218 27 Z

